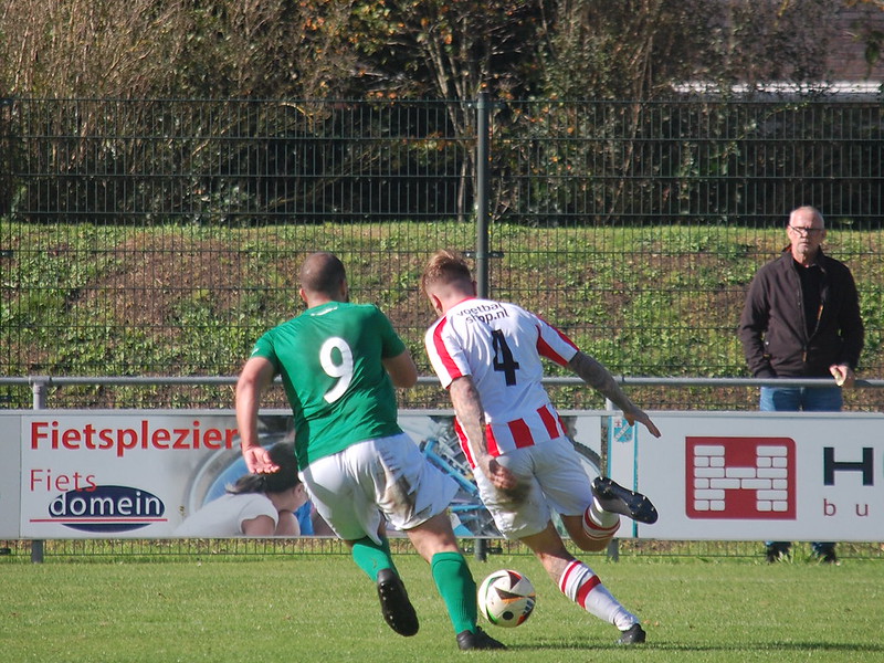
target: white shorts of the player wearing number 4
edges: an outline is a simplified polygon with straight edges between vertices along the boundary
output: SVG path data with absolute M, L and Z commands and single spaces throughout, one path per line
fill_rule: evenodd
M 590 477 L 568 438 L 556 438 L 497 456 L 527 486 L 514 501 L 498 492 L 476 469 L 482 501 L 494 524 L 506 538 L 518 539 L 546 529 L 552 512 L 564 516 L 582 515 L 592 503 Z

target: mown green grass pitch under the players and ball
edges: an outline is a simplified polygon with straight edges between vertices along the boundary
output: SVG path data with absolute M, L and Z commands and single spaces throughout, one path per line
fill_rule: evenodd
M 554 588 L 534 558 L 469 558 L 476 580 L 517 568 L 538 590 L 530 620 L 487 627 L 505 652 L 463 653 L 417 555 L 400 570 L 421 617 L 413 638 L 383 623 L 371 583 L 344 555 L 287 559 L 0 565 L 4 661 L 338 662 L 881 661 L 884 565 L 702 558 L 585 559 L 643 620 L 649 641 L 614 644 L 613 627 Z

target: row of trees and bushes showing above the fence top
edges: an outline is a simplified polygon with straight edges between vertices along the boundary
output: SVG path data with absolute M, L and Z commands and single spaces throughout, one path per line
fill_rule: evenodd
M 811 81 L 882 0 L 2 0 L 0 94 L 655 98 Z M 884 34 L 855 27 L 870 66 Z M 469 129 L 464 117 L 453 117 Z

